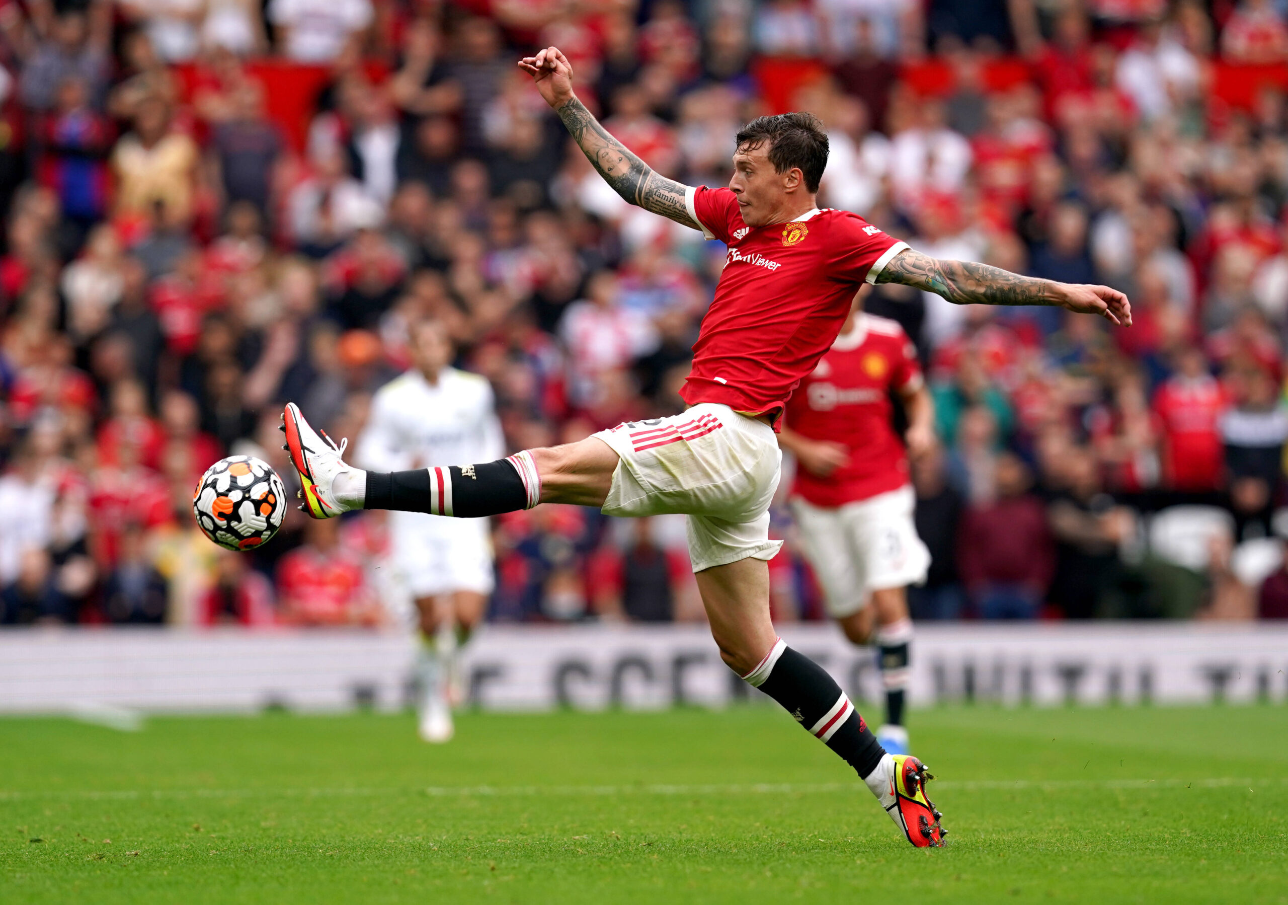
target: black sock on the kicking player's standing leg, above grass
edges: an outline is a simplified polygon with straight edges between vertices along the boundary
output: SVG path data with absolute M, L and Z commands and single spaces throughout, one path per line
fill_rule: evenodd
M 867 779 L 885 749 L 827 670 L 782 638 L 742 677 L 778 701 L 801 726 Z

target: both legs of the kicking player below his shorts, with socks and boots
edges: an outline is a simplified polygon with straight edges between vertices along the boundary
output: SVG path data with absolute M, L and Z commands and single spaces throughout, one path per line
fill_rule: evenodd
M 308 512 L 316 518 L 358 508 L 479 517 L 537 503 L 603 507 L 621 462 L 607 441 L 590 437 L 553 449 L 524 450 L 479 465 L 392 474 L 362 472 L 344 463 L 343 445 L 309 428 L 294 404 L 286 406 L 283 431 Z M 647 441 L 641 445 L 650 446 Z M 764 518 L 768 522 L 768 516 Z M 735 532 L 742 527 L 701 521 L 706 530 Z M 690 516 L 690 529 L 693 522 Z M 926 798 L 929 774 L 921 762 L 911 755 L 886 754 L 836 681 L 774 634 L 766 562 L 748 556 L 697 575 L 725 661 L 853 764 L 909 842 L 939 844 L 939 815 Z

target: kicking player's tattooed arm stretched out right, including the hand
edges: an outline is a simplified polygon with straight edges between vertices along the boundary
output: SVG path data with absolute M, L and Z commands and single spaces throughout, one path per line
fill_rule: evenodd
M 954 304 L 1045 304 L 1131 326 L 1131 303 L 1117 289 L 1038 280 L 970 260 L 939 260 L 913 249 L 891 258 L 877 282 L 916 286 Z

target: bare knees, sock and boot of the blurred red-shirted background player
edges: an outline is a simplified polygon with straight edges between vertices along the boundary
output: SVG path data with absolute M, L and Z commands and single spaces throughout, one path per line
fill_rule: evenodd
M 886 696 L 886 721 L 877 730 L 877 739 L 886 750 L 907 754 L 908 730 L 903 725 L 903 713 L 907 705 L 913 633 L 907 590 L 902 587 L 873 590 L 868 606 L 836 621 L 845 637 L 855 645 L 876 642 L 877 669 Z

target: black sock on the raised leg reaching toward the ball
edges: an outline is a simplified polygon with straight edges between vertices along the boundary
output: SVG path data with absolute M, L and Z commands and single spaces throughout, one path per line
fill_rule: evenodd
M 482 465 L 367 472 L 362 508 L 479 518 L 531 509 L 540 501 L 541 478 L 524 450 Z

